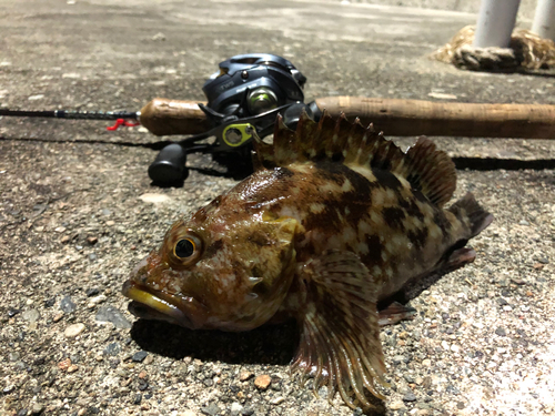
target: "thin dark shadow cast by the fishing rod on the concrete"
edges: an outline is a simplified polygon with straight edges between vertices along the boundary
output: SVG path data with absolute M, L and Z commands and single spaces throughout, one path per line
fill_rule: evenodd
M 113 144 L 124 148 L 145 148 L 154 151 L 160 151 L 168 144 L 175 143 L 170 140 L 162 140 L 152 143 L 135 143 L 135 142 L 109 142 L 104 140 L 51 140 L 51 139 L 20 139 L 20 138 L 6 138 L 0 135 L 2 141 L 19 141 L 19 142 L 42 142 L 42 143 L 87 143 L 87 144 Z M 534 159 L 534 160 L 519 160 L 519 159 L 497 159 L 497 158 L 452 158 L 457 170 L 471 171 L 519 171 L 519 170 L 555 170 L 555 159 Z

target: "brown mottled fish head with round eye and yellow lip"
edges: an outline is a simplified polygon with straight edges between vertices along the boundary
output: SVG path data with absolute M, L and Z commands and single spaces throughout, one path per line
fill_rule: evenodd
M 275 314 L 293 280 L 296 221 L 203 210 L 175 222 L 134 267 L 122 290 L 134 301 L 130 311 L 191 329 L 255 328 Z

